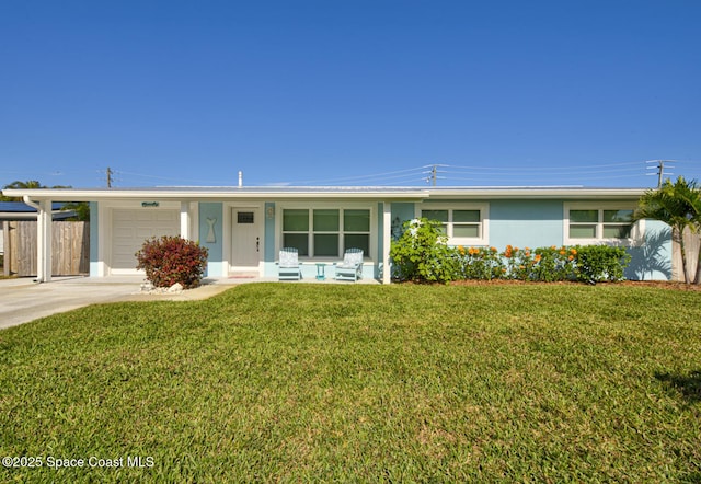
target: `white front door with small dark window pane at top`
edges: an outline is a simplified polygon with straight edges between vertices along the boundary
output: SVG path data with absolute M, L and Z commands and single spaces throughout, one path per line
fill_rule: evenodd
M 231 265 L 233 269 L 257 269 L 261 260 L 261 230 L 256 208 L 233 208 Z

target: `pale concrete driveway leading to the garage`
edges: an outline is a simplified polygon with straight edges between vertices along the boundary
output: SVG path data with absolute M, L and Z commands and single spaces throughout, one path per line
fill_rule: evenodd
M 24 277 L 2 279 L 0 329 L 101 302 L 206 299 L 237 284 L 231 279 L 205 279 L 205 284 L 196 289 L 161 295 L 142 292 L 142 281 L 140 276 L 59 277 L 42 284 Z

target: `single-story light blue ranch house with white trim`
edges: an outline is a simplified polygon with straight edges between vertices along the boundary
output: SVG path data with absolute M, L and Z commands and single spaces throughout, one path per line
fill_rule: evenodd
M 444 222 L 451 245 L 624 245 L 627 277 L 667 279 L 666 224 L 631 215 L 642 188 L 583 187 L 162 187 L 5 189 L 38 208 L 38 280 L 50 280 L 54 201 L 89 201 L 90 275 L 137 274 L 143 241 L 176 235 L 209 250 L 207 276 L 276 277 L 284 246 L 297 247 L 303 277 L 345 249 L 364 251 L 363 276 L 390 281 L 390 242 L 406 220 Z M 654 246 L 653 246 L 654 245 Z M 655 253 L 655 261 L 650 254 Z

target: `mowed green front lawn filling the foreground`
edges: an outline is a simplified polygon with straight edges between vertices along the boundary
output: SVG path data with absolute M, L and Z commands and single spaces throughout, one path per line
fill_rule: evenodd
M 0 332 L 0 428 L 2 457 L 42 463 L 2 482 L 698 482 L 701 292 L 249 284 L 93 306 Z

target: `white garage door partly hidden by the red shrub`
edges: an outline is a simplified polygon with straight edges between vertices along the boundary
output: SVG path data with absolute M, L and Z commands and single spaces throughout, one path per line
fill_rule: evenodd
M 112 211 L 112 274 L 136 274 L 136 252 L 152 237 L 179 235 L 177 210 Z

